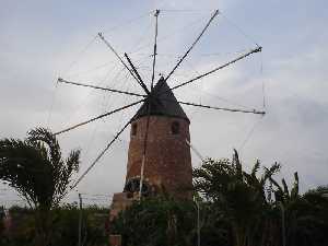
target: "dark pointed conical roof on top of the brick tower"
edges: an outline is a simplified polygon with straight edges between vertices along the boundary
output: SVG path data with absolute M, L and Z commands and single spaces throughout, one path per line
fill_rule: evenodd
M 150 105 L 150 113 L 149 107 Z M 137 114 L 133 117 L 133 120 L 148 116 L 148 114 L 154 116 L 167 116 L 186 119 L 189 122 L 189 119 L 184 112 L 183 107 L 177 102 L 169 86 L 167 85 L 164 78 L 161 78 L 154 89 L 151 92 L 151 96 L 139 108 Z

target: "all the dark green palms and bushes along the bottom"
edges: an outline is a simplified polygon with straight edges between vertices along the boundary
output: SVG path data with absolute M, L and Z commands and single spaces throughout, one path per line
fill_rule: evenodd
M 0 140 L 0 179 L 31 207 L 10 209 L 9 232 L 0 213 L 1 246 L 77 245 L 80 210 L 59 202 L 79 159 L 75 150 L 63 160 L 58 141 L 43 128 L 30 131 L 24 141 Z M 108 209 L 83 209 L 82 244 L 108 245 L 109 234 L 120 234 L 124 246 L 194 246 L 199 226 L 202 246 L 327 245 L 328 187 L 301 195 L 297 173 L 288 186 L 276 178 L 280 168 L 278 163 L 261 167 L 257 161 L 246 172 L 236 151 L 233 160 L 208 159 L 194 169 L 195 201 L 165 194 L 144 198 L 122 211 L 107 230 Z

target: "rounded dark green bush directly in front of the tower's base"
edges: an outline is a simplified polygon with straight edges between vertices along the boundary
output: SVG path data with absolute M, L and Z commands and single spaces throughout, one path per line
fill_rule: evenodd
M 197 210 L 192 201 L 165 196 L 133 202 L 110 222 L 124 246 L 189 246 L 196 242 Z

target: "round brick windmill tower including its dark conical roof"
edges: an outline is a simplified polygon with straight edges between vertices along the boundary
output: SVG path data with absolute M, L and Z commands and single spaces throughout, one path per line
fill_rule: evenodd
M 164 78 L 151 94 L 131 120 L 126 185 L 114 195 L 112 216 L 139 198 L 141 178 L 142 196 L 191 199 L 190 121 Z

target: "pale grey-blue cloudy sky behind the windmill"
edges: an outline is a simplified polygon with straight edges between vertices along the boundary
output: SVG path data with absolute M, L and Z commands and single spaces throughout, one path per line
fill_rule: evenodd
M 175 91 L 179 99 L 267 115 L 184 107 L 191 143 L 203 156 L 231 157 L 239 150 L 245 168 L 256 159 L 282 164 L 280 176 L 298 172 L 302 191 L 328 184 L 328 3 L 315 1 L 4 1 L 0 0 L 0 138 L 24 138 L 36 126 L 54 131 L 134 102 L 130 96 L 58 84 L 58 77 L 141 92 L 96 38 L 98 32 L 128 52 L 148 83 L 159 17 L 159 73 L 167 74 L 214 9 L 206 35 L 176 71 L 172 86 L 243 54 L 261 54 Z M 265 90 L 263 90 L 265 89 Z M 263 93 L 265 91 L 265 93 Z M 65 154 L 82 149 L 81 172 L 138 107 L 59 137 Z M 129 132 L 79 185 L 92 195 L 121 191 Z M 192 165 L 200 160 L 192 154 Z M 1 186 L 0 201 L 14 200 Z M 73 191 L 71 199 L 77 198 Z M 10 197 L 10 198 L 9 198 Z M 92 200 L 91 200 L 92 201 Z M 95 200 L 95 202 L 106 202 Z

